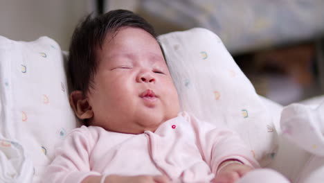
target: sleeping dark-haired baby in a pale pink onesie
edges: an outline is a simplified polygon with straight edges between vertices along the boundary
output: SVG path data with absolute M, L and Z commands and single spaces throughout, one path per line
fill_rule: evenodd
M 85 125 L 57 149 L 46 182 L 236 182 L 259 167 L 237 134 L 180 112 L 154 29 L 133 12 L 87 17 L 69 74 Z

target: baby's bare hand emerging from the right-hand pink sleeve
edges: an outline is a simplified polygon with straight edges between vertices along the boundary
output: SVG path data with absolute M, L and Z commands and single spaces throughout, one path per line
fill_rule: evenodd
M 222 165 L 221 165 L 222 166 Z M 252 171 L 251 166 L 246 166 L 244 164 L 228 164 L 224 166 L 213 179 L 213 183 L 234 183 L 239 180 L 243 175 Z

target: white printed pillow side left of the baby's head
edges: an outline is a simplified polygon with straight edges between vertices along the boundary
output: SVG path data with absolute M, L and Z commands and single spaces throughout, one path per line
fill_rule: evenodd
M 69 105 L 62 51 L 48 37 L 16 42 L 0 36 L 0 60 L 0 137 L 24 148 L 37 182 L 55 146 L 78 126 Z

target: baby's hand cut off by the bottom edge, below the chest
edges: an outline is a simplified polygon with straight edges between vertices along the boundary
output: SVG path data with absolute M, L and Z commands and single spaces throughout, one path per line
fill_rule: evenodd
M 168 177 L 163 175 L 138 175 L 138 176 L 120 176 L 120 175 L 109 175 L 105 179 L 105 183 L 169 183 Z

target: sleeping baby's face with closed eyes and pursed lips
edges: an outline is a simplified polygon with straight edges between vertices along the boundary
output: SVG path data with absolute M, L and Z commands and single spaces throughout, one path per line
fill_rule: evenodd
M 87 97 L 91 125 L 124 133 L 142 133 L 177 116 L 179 99 L 154 37 L 141 28 L 107 35 L 98 51 L 94 87 Z

